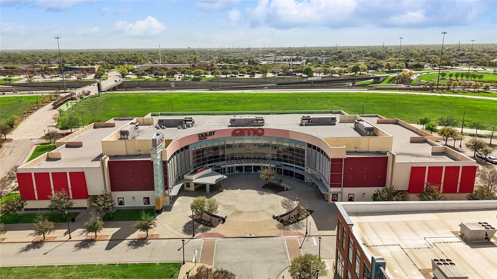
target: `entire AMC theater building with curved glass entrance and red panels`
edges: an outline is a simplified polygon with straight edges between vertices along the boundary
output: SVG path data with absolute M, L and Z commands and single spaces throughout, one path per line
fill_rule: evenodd
M 163 209 L 178 191 L 206 191 L 236 173 L 274 168 L 330 202 L 370 201 L 395 185 L 415 200 L 427 182 L 452 200 L 473 192 L 476 162 L 398 119 L 379 115 L 151 113 L 93 123 L 18 169 L 28 209 L 66 190 L 77 208 L 111 191 L 117 207 Z M 305 187 L 305 186 L 304 186 Z

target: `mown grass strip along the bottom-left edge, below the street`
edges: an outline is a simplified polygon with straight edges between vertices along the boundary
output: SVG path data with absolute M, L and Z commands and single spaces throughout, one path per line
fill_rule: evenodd
M 99 264 L 0 268 L 2 279 L 176 279 L 181 263 Z

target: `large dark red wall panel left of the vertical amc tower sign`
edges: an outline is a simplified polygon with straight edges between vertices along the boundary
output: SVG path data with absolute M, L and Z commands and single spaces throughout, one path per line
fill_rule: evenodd
M 151 160 L 109 161 L 112 191 L 153 191 L 154 170 Z

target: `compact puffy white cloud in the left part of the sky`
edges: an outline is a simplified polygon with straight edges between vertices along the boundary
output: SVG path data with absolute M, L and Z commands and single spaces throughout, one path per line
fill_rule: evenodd
M 149 38 L 162 33 L 166 27 L 153 16 L 147 16 L 144 20 L 137 20 L 135 23 L 127 21 L 116 21 L 114 24 L 116 31 L 124 33 L 132 38 Z

